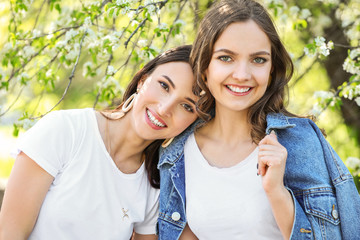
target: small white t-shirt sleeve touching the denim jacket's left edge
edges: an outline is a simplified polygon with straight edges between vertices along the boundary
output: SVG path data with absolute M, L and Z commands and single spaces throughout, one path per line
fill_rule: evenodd
M 146 206 L 146 215 L 143 222 L 135 223 L 134 230 L 138 234 L 155 234 L 156 222 L 159 215 L 159 189 L 151 189 L 148 204 Z

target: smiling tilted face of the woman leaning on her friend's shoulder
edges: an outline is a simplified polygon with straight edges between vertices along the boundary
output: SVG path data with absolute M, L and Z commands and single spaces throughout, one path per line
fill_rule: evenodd
M 132 116 L 135 130 L 147 140 L 171 138 L 197 118 L 194 75 L 185 62 L 159 65 L 139 83 Z

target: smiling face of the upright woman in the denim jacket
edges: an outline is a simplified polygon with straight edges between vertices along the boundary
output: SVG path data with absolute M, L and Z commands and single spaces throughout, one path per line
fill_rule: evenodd
M 217 110 L 247 112 L 264 95 L 271 66 L 271 43 L 259 26 L 252 20 L 230 24 L 205 71 Z

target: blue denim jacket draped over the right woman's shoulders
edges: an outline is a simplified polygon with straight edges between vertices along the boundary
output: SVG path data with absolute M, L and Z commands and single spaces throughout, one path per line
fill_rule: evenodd
M 285 187 L 293 197 L 291 238 L 360 239 L 360 196 L 342 160 L 307 118 L 267 116 L 266 134 L 275 130 L 288 158 Z M 192 125 L 160 151 L 159 240 L 175 240 L 186 225 L 184 144 Z

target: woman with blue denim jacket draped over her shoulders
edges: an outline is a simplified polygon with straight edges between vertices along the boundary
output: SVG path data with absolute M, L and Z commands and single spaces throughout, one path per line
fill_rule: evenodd
M 161 152 L 159 239 L 359 239 L 351 174 L 314 122 L 284 107 L 293 64 L 266 10 L 213 6 L 191 61 L 208 119 Z

